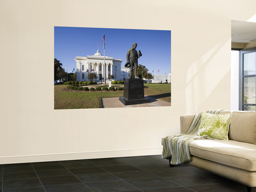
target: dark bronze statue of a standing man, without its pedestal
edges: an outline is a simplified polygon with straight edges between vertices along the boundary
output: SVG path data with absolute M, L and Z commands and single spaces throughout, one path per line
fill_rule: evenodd
M 133 43 L 132 44 L 132 48 L 128 49 L 127 51 L 127 56 L 126 56 L 126 64 L 125 67 L 126 68 L 130 68 L 130 78 L 132 78 L 132 68 L 134 68 L 134 78 L 139 78 L 138 77 L 138 58 L 140 58 L 140 56 L 142 56 L 140 50 L 137 52 L 136 51 L 136 47 L 137 44 Z

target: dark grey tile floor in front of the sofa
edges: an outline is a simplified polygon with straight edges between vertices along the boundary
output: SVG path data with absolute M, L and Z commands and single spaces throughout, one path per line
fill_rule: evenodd
M 161 156 L 0 165 L 0 192 L 246 191 L 246 186 Z M 252 192 L 256 188 L 252 188 Z

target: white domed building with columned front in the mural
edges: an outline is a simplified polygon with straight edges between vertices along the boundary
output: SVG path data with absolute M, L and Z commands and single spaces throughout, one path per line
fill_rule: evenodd
M 109 56 L 102 56 L 98 50 L 92 56 L 77 56 L 75 58 L 77 68 L 77 81 L 89 81 L 90 72 L 97 74 L 96 82 L 108 81 L 108 76 L 113 75 L 115 80 L 120 80 L 122 60 Z

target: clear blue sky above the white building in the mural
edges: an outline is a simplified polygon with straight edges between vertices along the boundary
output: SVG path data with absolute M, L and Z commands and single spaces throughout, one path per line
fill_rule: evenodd
M 126 63 L 126 54 L 132 44 L 138 44 L 142 56 L 138 63 L 145 65 L 155 75 L 171 72 L 171 31 L 145 29 L 108 29 L 54 27 L 54 58 L 60 60 L 68 73 L 76 70 L 76 56 L 93 55 L 98 50 L 103 55 L 102 37 L 106 37 L 106 56 L 121 59 Z M 159 72 L 157 72 L 159 70 Z

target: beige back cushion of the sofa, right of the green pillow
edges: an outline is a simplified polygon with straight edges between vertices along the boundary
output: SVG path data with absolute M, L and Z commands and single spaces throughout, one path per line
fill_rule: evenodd
M 229 127 L 228 138 L 256 144 L 256 112 L 234 111 Z

